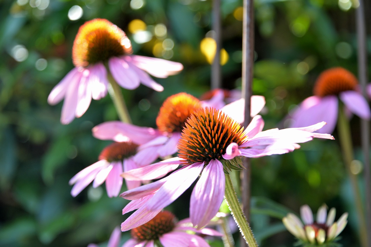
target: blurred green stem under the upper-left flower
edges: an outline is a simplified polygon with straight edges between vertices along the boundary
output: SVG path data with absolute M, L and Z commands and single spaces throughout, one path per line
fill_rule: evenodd
M 115 104 L 118 117 L 124 123 L 132 123 L 128 112 L 128 108 L 126 107 L 125 104 L 124 97 L 122 96 L 120 86 L 117 84 L 114 78 L 112 78 L 111 73 L 108 73 L 107 76 L 109 80 L 108 93 Z

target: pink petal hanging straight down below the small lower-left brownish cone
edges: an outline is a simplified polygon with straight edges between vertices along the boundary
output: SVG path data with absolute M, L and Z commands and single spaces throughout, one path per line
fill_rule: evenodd
M 122 173 L 122 162 L 112 162 L 114 167 L 109 172 L 106 178 L 106 191 L 108 197 L 116 197 L 120 193 L 123 178 L 120 176 Z

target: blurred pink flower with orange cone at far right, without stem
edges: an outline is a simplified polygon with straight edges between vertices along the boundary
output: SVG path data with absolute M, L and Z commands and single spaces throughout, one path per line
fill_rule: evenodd
M 338 98 L 349 111 L 360 118 L 369 119 L 370 108 L 357 89 L 357 78 L 348 70 L 342 67 L 325 70 L 315 83 L 314 96 L 306 98 L 290 113 L 290 126 L 302 127 L 325 121 L 327 125 L 318 132 L 332 133 L 338 118 Z

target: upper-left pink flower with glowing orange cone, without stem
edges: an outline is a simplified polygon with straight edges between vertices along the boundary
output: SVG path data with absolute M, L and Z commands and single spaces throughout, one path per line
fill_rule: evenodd
M 73 68 L 50 92 L 48 102 L 62 101 L 60 122 L 70 123 L 89 108 L 91 99 L 107 94 L 106 66 L 118 85 L 138 88 L 142 83 L 156 91 L 163 87 L 148 76 L 166 78 L 183 69 L 183 65 L 164 59 L 131 55 L 132 47 L 125 32 L 106 19 L 93 19 L 79 29 L 72 47 Z M 146 71 L 146 72 L 144 72 Z

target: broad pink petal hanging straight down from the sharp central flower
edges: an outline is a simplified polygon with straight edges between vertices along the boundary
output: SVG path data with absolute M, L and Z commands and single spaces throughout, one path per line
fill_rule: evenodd
M 225 182 L 223 164 L 212 159 L 203 169 L 191 194 L 190 218 L 198 229 L 204 227 L 218 213 L 224 197 Z

